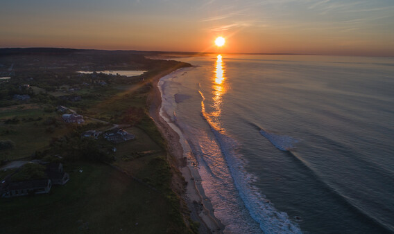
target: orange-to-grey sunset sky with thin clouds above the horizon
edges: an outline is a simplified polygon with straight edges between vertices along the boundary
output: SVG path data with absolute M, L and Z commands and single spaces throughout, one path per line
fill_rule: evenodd
M 394 57 L 394 0 L 0 0 L 9 47 Z

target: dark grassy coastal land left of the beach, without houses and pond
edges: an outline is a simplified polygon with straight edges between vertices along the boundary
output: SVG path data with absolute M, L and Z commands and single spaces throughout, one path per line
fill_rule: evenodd
M 62 163 L 70 177 L 48 194 L 0 198 L 0 233 L 198 231 L 180 199 L 185 183 L 148 116 L 147 101 L 153 80 L 190 64 L 145 55 L 154 54 L 0 49 L 0 78 L 7 78 L 0 79 L 0 179 L 17 171 L 3 169 L 10 163 L 31 160 Z M 146 72 L 133 77 L 76 72 L 105 70 Z M 62 120 L 62 114 L 73 113 L 85 123 Z M 114 127 L 135 139 L 81 137 L 87 130 Z

